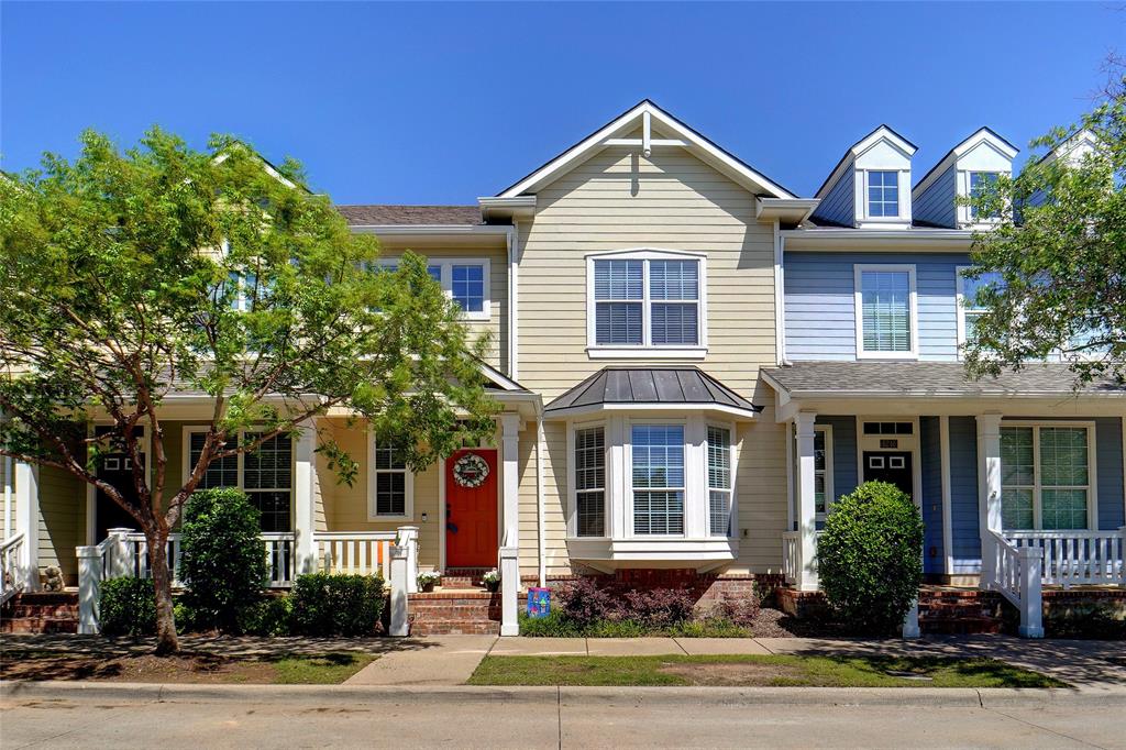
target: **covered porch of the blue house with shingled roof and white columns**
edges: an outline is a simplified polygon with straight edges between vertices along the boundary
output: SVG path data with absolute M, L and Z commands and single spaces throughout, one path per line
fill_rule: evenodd
M 969 382 L 960 363 L 798 363 L 765 372 L 789 426 L 783 570 L 819 589 L 816 541 L 865 481 L 910 494 L 932 583 L 998 591 L 1043 635 L 1044 587 L 1126 587 L 1126 391 L 1062 366 Z

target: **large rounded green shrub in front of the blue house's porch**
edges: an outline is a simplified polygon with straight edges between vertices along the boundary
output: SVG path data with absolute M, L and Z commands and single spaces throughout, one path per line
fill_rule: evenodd
M 817 542 L 817 570 L 843 623 L 893 635 L 922 581 L 922 516 L 902 490 L 866 482 L 833 505 Z

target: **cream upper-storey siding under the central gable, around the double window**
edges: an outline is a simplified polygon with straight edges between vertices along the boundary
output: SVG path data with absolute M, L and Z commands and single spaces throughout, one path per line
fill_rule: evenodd
M 708 354 L 692 364 L 750 396 L 775 361 L 774 230 L 756 221 L 753 195 L 694 157 L 605 149 L 542 189 L 519 229 L 519 381 L 545 401 L 607 364 L 654 364 L 587 355 L 589 252 L 707 253 Z

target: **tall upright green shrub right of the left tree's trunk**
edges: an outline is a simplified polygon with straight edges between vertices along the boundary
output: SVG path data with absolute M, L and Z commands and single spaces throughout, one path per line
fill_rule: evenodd
M 261 597 L 267 569 L 260 517 L 239 490 L 202 490 L 188 499 L 180 579 L 196 628 L 238 633 L 242 609 Z

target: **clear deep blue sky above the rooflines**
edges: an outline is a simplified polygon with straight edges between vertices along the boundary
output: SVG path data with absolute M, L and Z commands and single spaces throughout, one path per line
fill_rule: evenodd
M 473 203 L 651 98 L 799 195 L 882 122 L 915 178 L 1026 146 L 1126 53 L 1111 3 L 0 2 L 0 168 L 84 127 L 236 134 L 338 203 Z

